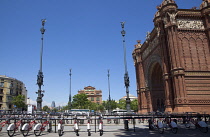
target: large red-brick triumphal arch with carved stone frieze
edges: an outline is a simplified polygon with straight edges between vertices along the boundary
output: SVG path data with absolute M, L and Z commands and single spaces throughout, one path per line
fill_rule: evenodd
M 154 29 L 133 51 L 139 112 L 210 113 L 210 0 L 157 6 Z

